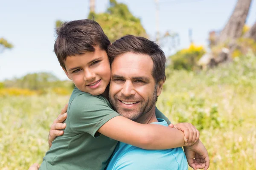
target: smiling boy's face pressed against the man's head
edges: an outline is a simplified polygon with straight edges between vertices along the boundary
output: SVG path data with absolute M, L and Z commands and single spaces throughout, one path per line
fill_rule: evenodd
M 94 52 L 67 57 L 65 71 L 80 91 L 94 96 L 102 94 L 110 82 L 111 70 L 106 51 L 94 46 Z

